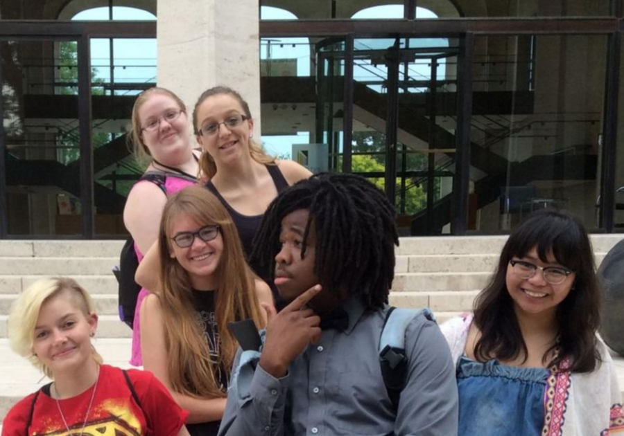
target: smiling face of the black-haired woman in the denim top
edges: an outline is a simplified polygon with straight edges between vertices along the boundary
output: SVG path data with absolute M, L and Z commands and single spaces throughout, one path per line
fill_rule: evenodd
M 553 253 L 548 253 L 547 261 L 543 262 L 537 255 L 536 248 L 532 248 L 524 257 L 512 257 L 512 260 L 522 260 L 531 264 L 541 266 L 564 267 L 557 262 Z M 544 280 L 544 275 L 540 269 L 528 279 L 519 278 L 514 273 L 511 264 L 507 266 L 505 276 L 509 295 L 514 301 L 514 309 L 517 314 L 555 316 L 557 306 L 565 300 L 570 293 L 575 280 L 575 274 L 569 274 L 560 284 L 551 284 Z

